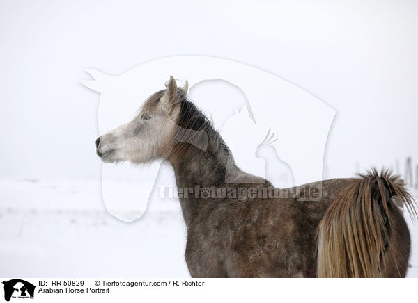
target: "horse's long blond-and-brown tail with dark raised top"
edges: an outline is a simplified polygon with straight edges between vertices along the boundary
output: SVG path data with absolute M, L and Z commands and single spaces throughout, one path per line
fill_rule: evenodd
M 387 170 L 379 175 L 376 169 L 358 176 L 341 190 L 318 225 L 318 277 L 385 277 L 385 268 L 400 257 L 393 255 L 396 249 L 388 247 L 402 238 L 401 233 L 409 236 L 391 199 L 403 202 L 417 218 L 415 202 L 398 176 Z M 396 227 L 399 220 L 402 232 Z M 408 264 L 410 248 L 406 247 L 403 259 Z

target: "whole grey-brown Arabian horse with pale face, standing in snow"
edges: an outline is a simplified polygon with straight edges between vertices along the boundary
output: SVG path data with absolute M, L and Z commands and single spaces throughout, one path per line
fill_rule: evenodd
M 167 89 L 96 147 L 106 163 L 163 159 L 173 166 L 192 277 L 405 277 L 410 232 L 394 199 L 417 213 L 397 176 L 372 170 L 273 188 L 235 165 L 210 120 L 187 99 L 187 87 L 170 77 Z M 320 188 L 318 199 L 305 199 L 304 188 Z M 234 195 L 242 189 L 245 199 Z

